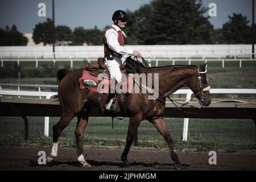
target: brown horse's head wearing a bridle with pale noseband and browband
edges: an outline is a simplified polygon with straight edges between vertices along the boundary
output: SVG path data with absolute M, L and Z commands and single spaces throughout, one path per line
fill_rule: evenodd
M 210 105 L 210 86 L 207 80 L 207 68 L 205 68 L 207 63 L 197 67 L 197 72 L 192 75 L 191 81 L 189 81 L 188 87 L 195 94 L 196 98 L 199 100 L 200 105 L 209 106 Z

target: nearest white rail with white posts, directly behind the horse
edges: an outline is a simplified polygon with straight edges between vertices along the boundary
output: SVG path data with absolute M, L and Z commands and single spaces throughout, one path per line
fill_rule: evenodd
M 46 97 L 46 99 L 51 98 L 51 96 L 56 95 L 57 92 L 27 92 L 27 91 L 10 91 L 10 90 L 0 90 L 0 95 L 6 96 L 35 96 L 35 97 Z M 186 95 L 186 101 L 190 100 L 192 96 L 192 91 L 190 89 L 180 89 L 177 90 L 172 95 Z M 211 89 L 210 94 L 256 94 L 256 89 Z M 183 141 L 187 141 L 188 138 L 188 121 L 189 118 L 184 118 L 183 124 Z M 49 136 L 49 117 L 44 119 L 44 135 Z

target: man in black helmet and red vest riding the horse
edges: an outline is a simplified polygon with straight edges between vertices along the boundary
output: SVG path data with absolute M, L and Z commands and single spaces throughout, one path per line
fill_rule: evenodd
M 104 57 L 105 65 L 109 70 L 110 78 L 120 83 L 122 80 L 122 73 L 119 66 L 122 65 L 123 55 L 133 55 L 135 57 L 142 57 L 141 53 L 128 49 L 125 47 L 126 35 L 123 32 L 126 21 L 129 16 L 125 11 L 117 10 L 112 16 L 114 24 L 106 31 L 104 36 Z M 113 97 L 113 94 L 112 94 Z M 114 101 L 114 102 L 113 102 Z M 115 98 L 111 99 L 106 106 L 107 110 L 115 110 Z

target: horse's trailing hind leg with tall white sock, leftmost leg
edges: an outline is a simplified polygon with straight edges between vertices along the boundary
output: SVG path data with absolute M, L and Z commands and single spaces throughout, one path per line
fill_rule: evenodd
M 51 163 L 57 157 L 58 140 L 59 140 L 60 134 L 65 129 L 65 127 L 68 126 L 69 122 L 73 119 L 73 117 L 74 117 L 74 114 L 63 113 L 61 115 L 60 121 L 52 127 L 53 144 L 52 144 L 51 154 L 46 159 L 47 164 Z

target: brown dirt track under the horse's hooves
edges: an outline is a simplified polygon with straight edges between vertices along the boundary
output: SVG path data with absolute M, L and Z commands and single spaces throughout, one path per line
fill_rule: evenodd
M 52 166 L 39 166 L 38 152 L 49 155 L 51 146 L 0 146 L 0 170 L 177 170 L 168 150 L 132 147 L 128 155 L 130 167 L 123 168 L 120 160 L 123 147 L 85 146 L 85 160 L 92 165 L 82 168 L 76 162 L 76 148 L 59 147 Z M 209 165 L 208 152 L 177 151 L 181 163 L 191 164 L 181 170 L 256 170 L 256 151 L 217 152 L 217 165 Z

